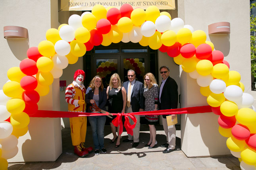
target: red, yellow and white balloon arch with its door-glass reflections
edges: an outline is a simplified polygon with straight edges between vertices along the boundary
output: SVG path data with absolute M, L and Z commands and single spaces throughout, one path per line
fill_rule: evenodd
M 171 19 L 169 13 L 160 13 L 156 6 L 144 11 L 129 4 L 120 9 L 96 5 L 91 13 L 71 15 L 68 23 L 60 25 L 58 30 L 47 30 L 46 40 L 27 50 L 28 59 L 7 72 L 10 81 L 0 94 L 1 100 L 6 100 L 0 105 L 0 167 L 7 168 L 7 159 L 17 154 L 17 138 L 27 133 L 29 115 L 38 110 L 40 96 L 48 94 L 49 85 L 54 78 L 62 76 L 62 69 L 76 63 L 78 57 L 94 46 L 121 41 L 139 42 L 173 57 L 183 71 L 196 79 L 200 93 L 207 96 L 213 113 L 219 115 L 219 133 L 227 137 L 227 147 L 241 161 L 241 168 L 255 167 L 254 98 L 243 93 L 240 74 L 229 70 L 223 53 L 206 41 L 204 31 L 194 31 L 182 19 Z M 144 66 L 137 59 L 133 63 L 125 61 L 124 65 L 143 74 Z M 107 61 L 99 66 L 97 74 L 106 76 L 114 66 L 113 61 Z

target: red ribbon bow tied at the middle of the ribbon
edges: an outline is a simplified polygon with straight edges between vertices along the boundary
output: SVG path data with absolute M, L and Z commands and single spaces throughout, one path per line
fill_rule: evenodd
M 122 116 L 125 116 L 124 127 L 125 127 L 125 129 L 127 131 L 127 134 L 131 134 L 133 136 L 133 128 L 135 128 L 135 125 L 137 123 L 137 119 L 132 114 L 129 114 L 129 113 L 118 113 L 116 115 L 116 118 L 114 120 L 112 120 L 113 125 L 115 127 L 118 127 L 120 125 L 119 126 L 119 135 L 121 135 L 123 133 Z M 131 119 L 133 120 L 133 122 L 134 122 L 133 125 L 131 125 L 131 123 L 129 122 L 129 117 L 131 117 Z

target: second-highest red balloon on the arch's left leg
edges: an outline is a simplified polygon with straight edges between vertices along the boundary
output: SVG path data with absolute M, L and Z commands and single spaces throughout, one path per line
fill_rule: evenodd
M 22 60 L 19 63 L 19 68 L 21 69 L 21 72 L 29 76 L 35 75 L 38 72 L 37 62 L 32 59 Z

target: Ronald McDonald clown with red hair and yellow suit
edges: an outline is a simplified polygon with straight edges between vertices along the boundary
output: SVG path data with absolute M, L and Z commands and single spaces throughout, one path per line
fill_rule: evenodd
M 85 72 L 77 70 L 74 74 L 74 81 L 67 86 L 65 91 L 65 100 L 68 103 L 68 111 L 84 112 L 86 108 L 85 103 L 85 86 L 82 84 L 84 81 Z M 70 117 L 70 130 L 72 145 L 74 153 L 79 157 L 84 157 L 92 151 L 92 147 L 85 147 L 85 136 L 87 130 L 87 117 Z

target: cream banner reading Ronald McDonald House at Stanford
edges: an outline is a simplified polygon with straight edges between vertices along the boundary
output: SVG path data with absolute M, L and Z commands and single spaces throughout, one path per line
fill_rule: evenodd
M 133 8 L 146 9 L 149 6 L 156 6 L 158 9 L 175 9 L 175 0 L 62 0 L 62 11 L 91 11 L 96 5 L 105 8 L 120 8 L 123 4 L 130 4 Z

